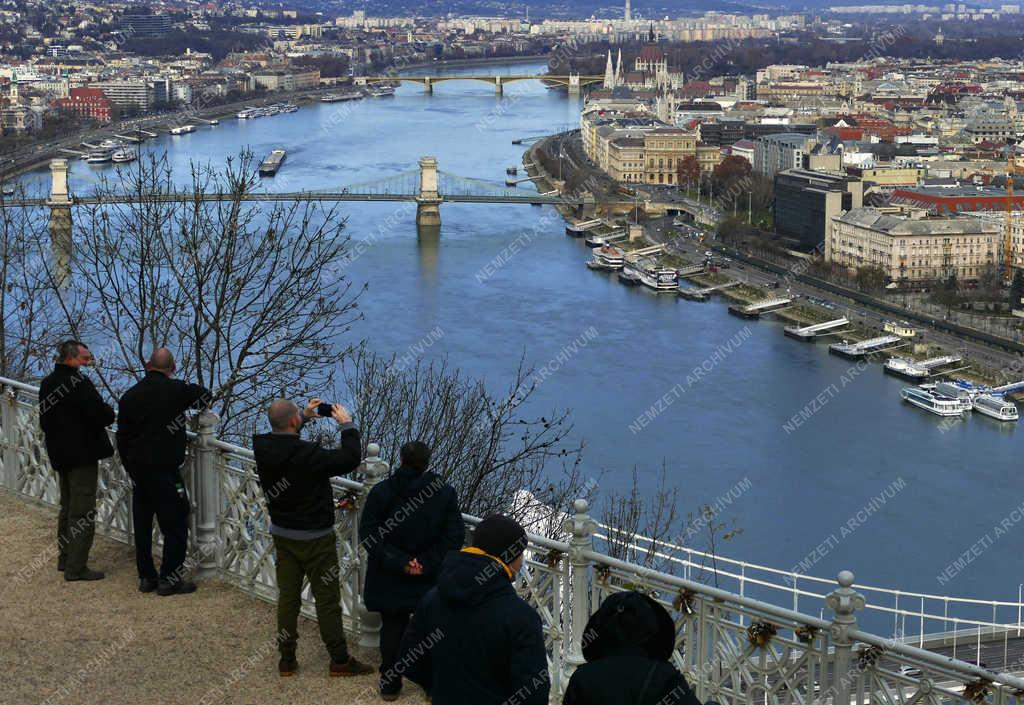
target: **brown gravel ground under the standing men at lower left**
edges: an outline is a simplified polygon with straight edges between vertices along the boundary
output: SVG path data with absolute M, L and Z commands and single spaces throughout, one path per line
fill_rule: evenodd
M 282 678 L 272 605 L 216 580 L 190 595 L 141 594 L 130 546 L 97 536 L 89 563 L 106 579 L 66 583 L 55 526 L 52 510 L 0 494 L 0 703 L 381 702 L 376 674 L 328 676 L 311 620 L 299 624 L 299 673 Z M 407 683 L 401 702 L 425 700 Z

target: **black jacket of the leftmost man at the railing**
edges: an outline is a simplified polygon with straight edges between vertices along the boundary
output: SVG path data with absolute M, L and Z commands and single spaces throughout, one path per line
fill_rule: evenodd
M 106 426 L 114 409 L 79 370 L 57 364 L 39 384 L 39 425 L 57 472 L 114 455 Z

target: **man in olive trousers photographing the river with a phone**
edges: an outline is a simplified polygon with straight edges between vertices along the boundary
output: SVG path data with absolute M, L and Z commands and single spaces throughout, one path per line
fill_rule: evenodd
M 342 627 L 341 584 L 337 539 L 334 533 L 334 492 L 331 478 L 355 470 L 361 462 L 359 431 L 340 404 L 331 416 L 341 429 L 341 447 L 322 448 L 303 441 L 299 430 L 316 417 L 321 400 L 311 399 L 299 408 L 287 399 L 270 405 L 270 432 L 253 437 L 256 472 L 270 512 L 270 534 L 276 553 L 278 573 L 278 671 L 294 675 L 298 642 L 302 580 L 316 605 L 321 638 L 331 655 L 331 675 L 365 675 L 373 667 L 348 655 Z

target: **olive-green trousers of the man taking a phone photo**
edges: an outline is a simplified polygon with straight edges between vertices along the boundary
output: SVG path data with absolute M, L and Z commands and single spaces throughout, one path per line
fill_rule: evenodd
M 341 621 L 341 571 L 334 532 L 309 541 L 274 536 L 273 547 L 278 556 L 278 649 L 281 656 L 295 658 L 302 581 L 308 578 L 324 646 L 332 661 L 348 661 Z

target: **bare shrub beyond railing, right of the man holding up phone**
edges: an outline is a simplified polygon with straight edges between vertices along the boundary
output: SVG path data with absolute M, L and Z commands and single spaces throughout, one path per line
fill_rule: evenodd
M 364 443 L 380 444 L 387 458 L 397 458 L 407 441 L 429 445 L 431 465 L 458 491 L 464 511 L 504 512 L 551 533 L 586 495 L 583 447 L 570 442 L 568 412 L 527 413 L 536 385 L 522 364 L 500 397 L 446 360 L 403 365 L 364 348 L 344 369 Z

